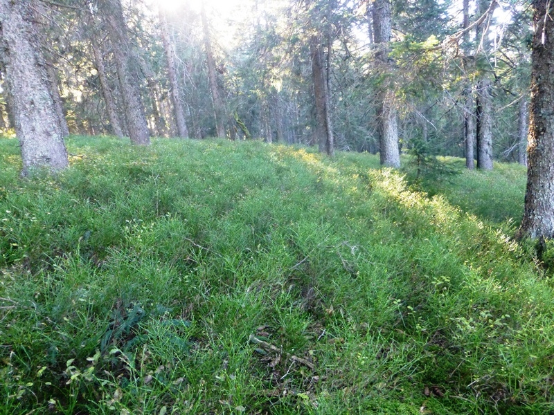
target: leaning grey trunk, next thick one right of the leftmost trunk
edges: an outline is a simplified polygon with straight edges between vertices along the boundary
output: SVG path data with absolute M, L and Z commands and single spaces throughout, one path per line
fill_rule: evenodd
M 150 145 L 150 133 L 146 121 L 141 93 L 139 90 L 139 77 L 137 64 L 134 62 L 134 54 L 131 42 L 127 36 L 127 25 L 123 17 L 120 0 L 100 0 L 99 8 L 102 17 L 107 23 L 107 32 L 111 44 L 114 46 L 114 59 L 117 66 L 117 75 L 129 138 L 136 145 Z

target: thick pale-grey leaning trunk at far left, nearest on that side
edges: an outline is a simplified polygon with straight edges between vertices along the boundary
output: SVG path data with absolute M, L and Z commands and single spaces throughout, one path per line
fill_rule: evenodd
M 68 158 L 30 1 L 0 0 L 0 59 L 21 145 L 24 176 L 33 167 L 56 171 Z

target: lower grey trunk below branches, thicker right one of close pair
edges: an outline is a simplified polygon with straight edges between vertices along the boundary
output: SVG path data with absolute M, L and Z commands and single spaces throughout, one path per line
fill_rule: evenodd
M 490 80 L 485 77 L 477 85 L 477 168 L 492 170 L 492 98 Z

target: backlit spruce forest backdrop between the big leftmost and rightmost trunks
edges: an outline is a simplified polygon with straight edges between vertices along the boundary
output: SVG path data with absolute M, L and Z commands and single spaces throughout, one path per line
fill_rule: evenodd
M 381 149 L 392 166 L 399 145 L 469 168 L 526 163 L 524 1 L 28 4 L 64 136 L 263 138 Z M 11 106 L 3 88 L 2 129 Z

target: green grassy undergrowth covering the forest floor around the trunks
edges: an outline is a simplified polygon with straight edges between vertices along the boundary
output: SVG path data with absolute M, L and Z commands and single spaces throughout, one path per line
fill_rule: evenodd
M 523 167 L 68 145 L 21 179 L 0 140 L 0 414 L 553 413 L 554 250 L 510 239 Z

